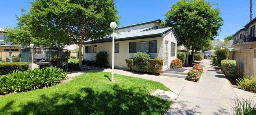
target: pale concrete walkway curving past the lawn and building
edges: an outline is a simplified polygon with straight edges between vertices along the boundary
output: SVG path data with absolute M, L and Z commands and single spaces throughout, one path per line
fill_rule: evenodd
M 114 73 L 160 82 L 178 94 L 178 98 L 166 115 L 223 115 L 225 113 L 229 115 L 232 114 L 230 104 L 235 102 L 235 96 L 240 99 L 253 97 L 254 93 L 232 88 L 221 70 L 212 68 L 210 60 L 203 60 L 200 63 L 204 65 L 204 73 L 199 82 L 191 82 L 183 78 L 128 72 L 123 69 L 115 69 Z M 93 71 L 111 71 L 108 68 L 84 67 L 91 70 L 73 72 L 68 77 Z

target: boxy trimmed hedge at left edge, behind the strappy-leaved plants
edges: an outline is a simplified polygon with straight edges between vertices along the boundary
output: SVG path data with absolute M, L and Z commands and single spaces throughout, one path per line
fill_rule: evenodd
M 0 75 L 6 75 L 12 71 L 25 71 L 28 70 L 28 66 L 27 62 L 0 63 Z

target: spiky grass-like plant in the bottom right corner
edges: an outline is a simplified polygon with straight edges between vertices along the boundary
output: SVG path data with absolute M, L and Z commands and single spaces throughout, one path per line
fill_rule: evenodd
M 236 97 L 235 104 L 232 104 L 234 115 L 256 115 L 256 104 L 252 102 L 253 97 L 252 99 L 243 99 L 242 101 Z

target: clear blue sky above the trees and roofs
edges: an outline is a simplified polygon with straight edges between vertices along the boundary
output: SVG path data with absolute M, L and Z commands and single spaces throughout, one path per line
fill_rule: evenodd
M 31 7 L 29 2 L 33 0 L 3 0 L 1 1 L 0 27 L 15 27 L 17 20 L 15 15 L 21 14 L 21 9 Z M 122 26 L 147 22 L 151 20 L 164 20 L 163 14 L 169 10 L 177 0 L 116 0 L 119 10 L 120 24 Z M 209 0 L 207 0 L 209 1 Z M 211 3 L 218 3 L 213 7 L 219 7 L 224 18 L 224 26 L 221 27 L 219 36 L 215 39 L 224 39 L 233 35 L 250 21 L 250 0 L 210 0 Z M 253 0 L 253 3 L 255 1 Z M 253 16 L 256 16 L 256 4 L 253 5 Z M 119 25 L 120 26 L 120 25 Z

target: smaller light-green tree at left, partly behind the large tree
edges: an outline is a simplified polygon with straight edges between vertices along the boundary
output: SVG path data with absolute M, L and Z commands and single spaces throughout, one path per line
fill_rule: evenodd
M 58 38 L 50 38 L 45 33 L 38 35 L 35 34 L 33 28 L 29 25 L 31 16 L 26 15 L 24 12 L 25 10 L 22 9 L 22 16 L 16 16 L 18 23 L 17 26 L 12 28 L 4 28 L 7 33 L 6 42 L 13 42 L 13 44 L 18 44 L 22 46 L 29 46 L 31 43 L 34 44 L 35 47 L 50 47 L 50 48 L 63 48 L 67 45 L 68 42 L 65 44 L 59 40 Z

